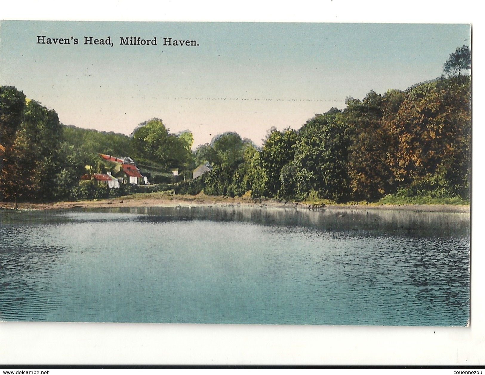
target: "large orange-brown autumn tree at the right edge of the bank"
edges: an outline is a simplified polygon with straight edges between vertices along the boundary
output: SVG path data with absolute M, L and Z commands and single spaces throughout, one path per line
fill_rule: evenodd
M 401 187 L 469 197 L 470 106 L 470 77 L 441 78 L 407 91 L 389 123 L 398 140 L 389 163 Z

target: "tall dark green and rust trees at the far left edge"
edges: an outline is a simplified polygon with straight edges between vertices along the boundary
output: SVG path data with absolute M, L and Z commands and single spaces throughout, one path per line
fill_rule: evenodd
M 1 115 L 3 199 L 55 198 L 51 184 L 59 172 L 62 135 L 57 113 L 13 87 L 2 87 Z

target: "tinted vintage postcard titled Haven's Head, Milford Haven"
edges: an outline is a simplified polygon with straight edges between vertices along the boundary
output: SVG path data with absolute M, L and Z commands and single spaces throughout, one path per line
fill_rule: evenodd
M 0 31 L 1 320 L 469 325 L 469 24 Z

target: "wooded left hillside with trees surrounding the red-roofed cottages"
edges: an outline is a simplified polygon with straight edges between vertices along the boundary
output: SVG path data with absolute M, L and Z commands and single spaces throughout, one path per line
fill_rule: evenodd
M 97 173 L 113 170 L 113 163 L 100 158 L 99 153 L 139 158 L 154 169 L 168 172 L 169 176 L 171 168 L 193 168 L 193 136 L 189 131 L 168 134 L 161 122 L 151 121 L 136 129 L 139 133 L 150 130 L 146 132 L 146 139 L 140 140 L 113 132 L 65 126 L 59 123 L 54 110 L 27 99 L 14 87 L 1 87 L 0 94 L 1 200 L 107 198 L 114 190 L 97 187 L 89 181 L 80 183 L 81 176 L 87 172 L 85 166 L 91 166 L 90 171 Z M 152 125 L 153 122 L 159 126 Z M 145 129 L 146 124 L 149 126 Z M 160 140 L 158 130 L 166 130 L 165 134 L 161 132 L 165 137 Z M 140 143 L 146 149 L 140 148 Z M 167 148 L 163 153 L 161 143 Z M 116 193 L 131 191 L 130 188 L 116 189 Z

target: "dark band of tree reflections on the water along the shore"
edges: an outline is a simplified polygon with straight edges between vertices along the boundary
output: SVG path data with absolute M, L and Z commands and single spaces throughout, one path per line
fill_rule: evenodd
M 294 209 L 245 206 L 214 207 L 121 207 L 72 212 L 67 217 L 81 220 L 239 221 L 261 225 L 303 226 L 328 231 L 365 231 L 412 236 L 469 236 L 469 213 L 422 212 L 375 209 Z M 98 213 L 105 213 L 103 217 Z M 135 214 L 132 215 L 123 214 Z

